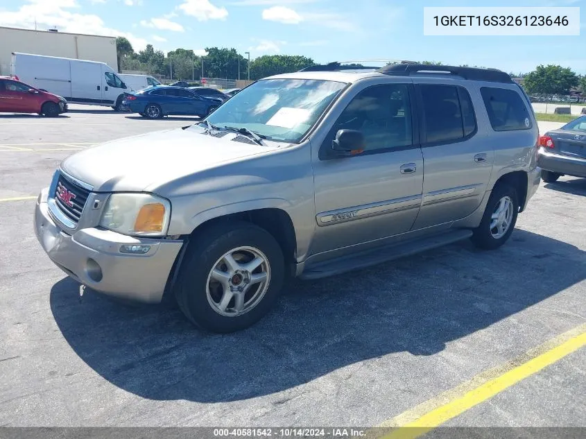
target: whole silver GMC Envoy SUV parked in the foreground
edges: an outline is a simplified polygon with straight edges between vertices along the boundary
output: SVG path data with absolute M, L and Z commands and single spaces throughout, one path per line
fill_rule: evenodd
M 470 238 L 494 249 L 535 193 L 528 97 L 494 69 L 339 63 L 258 80 L 204 121 L 87 148 L 37 200 L 51 260 L 96 291 L 173 294 L 213 332 L 286 279 Z

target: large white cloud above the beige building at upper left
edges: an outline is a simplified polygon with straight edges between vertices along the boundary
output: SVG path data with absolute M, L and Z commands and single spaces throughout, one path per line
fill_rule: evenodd
M 36 26 L 42 30 L 55 26 L 61 32 L 126 37 L 135 51 L 144 49 L 148 44 L 144 38 L 105 26 L 98 15 L 70 11 L 78 10 L 78 7 L 76 0 L 28 0 L 17 10 L 3 10 L 0 26 L 25 29 L 34 29 Z

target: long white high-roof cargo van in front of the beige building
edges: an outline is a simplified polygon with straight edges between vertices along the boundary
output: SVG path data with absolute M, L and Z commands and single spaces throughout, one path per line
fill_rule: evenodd
M 68 103 L 103 105 L 119 110 L 126 84 L 104 62 L 12 53 L 11 73 Z

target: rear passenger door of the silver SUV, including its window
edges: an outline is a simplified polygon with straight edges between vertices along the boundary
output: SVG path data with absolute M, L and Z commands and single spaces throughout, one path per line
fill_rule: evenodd
M 494 162 L 491 140 L 479 132 L 469 91 L 424 81 L 429 80 L 414 79 L 425 163 L 423 201 L 414 230 L 472 214 L 488 189 Z

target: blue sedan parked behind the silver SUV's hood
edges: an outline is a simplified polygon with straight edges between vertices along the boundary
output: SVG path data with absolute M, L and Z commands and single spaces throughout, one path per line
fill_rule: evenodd
M 161 119 L 171 114 L 205 117 L 222 103 L 221 99 L 200 96 L 190 89 L 159 85 L 127 93 L 121 109 L 148 119 Z

